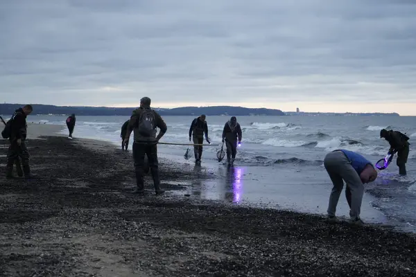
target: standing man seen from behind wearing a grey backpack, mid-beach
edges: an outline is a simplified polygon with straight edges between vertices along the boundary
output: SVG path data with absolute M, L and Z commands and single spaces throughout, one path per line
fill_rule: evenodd
M 134 193 L 144 193 L 144 156 L 146 154 L 153 183 L 155 184 L 156 195 L 161 195 L 164 193 L 164 190 L 160 188 L 157 143 L 164 136 L 168 127 L 166 127 L 166 123 L 164 123 L 157 111 L 150 109 L 150 102 L 151 100 L 148 97 L 141 98 L 139 109 L 135 109 L 132 112 L 124 140 L 127 143 L 130 134 L 134 130 L 133 157 L 135 159 L 137 181 L 137 188 Z M 160 131 L 156 136 L 157 127 L 159 127 Z

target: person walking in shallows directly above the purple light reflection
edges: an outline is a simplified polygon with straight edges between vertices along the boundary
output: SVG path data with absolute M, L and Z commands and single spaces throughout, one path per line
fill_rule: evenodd
M 241 143 L 241 127 L 237 122 L 237 118 L 232 118 L 225 123 L 223 129 L 223 142 L 227 145 L 227 162 L 228 165 L 234 165 L 234 160 L 237 154 L 237 143 Z

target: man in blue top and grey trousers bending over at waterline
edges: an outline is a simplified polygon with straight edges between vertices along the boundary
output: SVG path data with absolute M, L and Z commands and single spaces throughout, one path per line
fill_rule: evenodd
M 335 150 L 325 156 L 324 167 L 333 184 L 327 211 L 329 219 L 336 219 L 336 206 L 345 181 L 347 184 L 345 195 L 350 208 L 349 216 L 352 223 L 362 224 L 360 213 L 364 195 L 363 184 L 370 183 L 377 178 L 374 166 L 361 154 L 349 150 Z

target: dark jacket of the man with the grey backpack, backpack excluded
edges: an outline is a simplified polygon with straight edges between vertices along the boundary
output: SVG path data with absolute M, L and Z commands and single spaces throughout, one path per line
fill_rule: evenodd
M 160 133 L 159 134 L 164 134 L 166 133 L 168 127 L 166 126 L 166 123 L 164 122 L 164 120 L 162 119 L 162 116 L 160 116 L 157 111 L 150 109 L 153 111 L 153 115 L 154 120 L 155 120 L 155 126 L 154 126 L 154 132 L 152 134 L 152 136 L 150 137 L 144 137 L 141 136 L 141 134 L 138 132 L 138 127 L 139 127 L 139 119 L 141 116 L 142 111 L 144 111 L 144 109 L 150 109 L 149 108 L 143 108 L 143 107 L 139 107 L 138 109 L 135 109 L 132 112 L 132 116 L 130 117 L 130 122 L 128 123 L 128 129 L 129 130 L 133 130 L 135 132 L 135 141 L 136 142 L 154 142 L 156 141 L 156 133 L 157 130 L 156 128 L 159 127 L 160 129 Z M 159 135 L 160 136 L 160 135 Z

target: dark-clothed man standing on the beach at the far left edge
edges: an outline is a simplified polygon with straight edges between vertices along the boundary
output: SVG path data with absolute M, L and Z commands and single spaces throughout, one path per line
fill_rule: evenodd
M 26 179 L 31 179 L 35 175 L 31 174 L 31 167 L 29 166 L 30 155 L 26 147 L 27 124 L 26 117 L 31 114 L 33 107 L 25 105 L 19 108 L 12 115 L 10 128 L 10 146 L 7 153 L 6 178 L 13 178 L 13 164 L 17 159 L 21 159 L 23 166 L 23 173 Z M 18 172 L 19 174 L 19 172 Z

